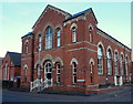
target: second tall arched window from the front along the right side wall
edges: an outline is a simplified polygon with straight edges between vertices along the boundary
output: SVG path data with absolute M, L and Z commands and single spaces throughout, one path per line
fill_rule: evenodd
M 111 67 L 112 66 L 111 65 L 112 64 L 112 60 L 111 60 L 112 56 L 111 56 L 110 49 L 108 50 L 106 56 L 108 56 L 108 59 L 106 59 L 108 60 L 108 74 L 111 75 L 112 74 L 112 67 Z

